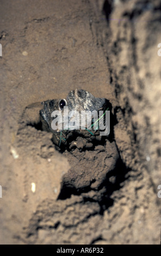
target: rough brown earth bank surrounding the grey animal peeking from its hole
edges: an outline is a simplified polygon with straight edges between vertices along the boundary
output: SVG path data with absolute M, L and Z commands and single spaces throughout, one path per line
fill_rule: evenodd
M 1 1 L 1 244 L 160 243 L 160 23 L 160 1 Z M 76 88 L 111 133 L 60 151 L 35 102 Z

